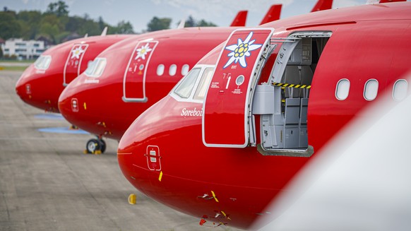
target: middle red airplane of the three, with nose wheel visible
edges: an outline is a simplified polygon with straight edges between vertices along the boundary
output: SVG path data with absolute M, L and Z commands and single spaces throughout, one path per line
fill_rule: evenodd
M 279 18 L 278 8 L 281 5 L 273 5 L 262 23 Z M 91 69 L 85 71 L 59 98 L 60 112 L 68 122 L 97 135 L 87 142 L 85 152 L 104 153 L 102 136 L 119 140 L 139 114 L 167 95 L 180 78 L 213 47 L 227 39 L 232 30 L 234 28 L 165 30 L 157 36 L 147 34 L 124 40 L 102 52 L 95 66 L 100 65 L 100 61 L 109 66 L 104 69 L 105 64 L 101 64 L 101 69 L 95 69 L 101 76 L 96 78 L 98 75 Z M 141 42 L 148 38 L 153 42 Z M 143 46 L 153 50 L 148 53 L 148 59 L 133 58 Z M 125 55 L 119 57 L 119 52 Z M 137 70 L 140 62 L 143 69 Z M 136 71 L 142 78 L 133 78 Z

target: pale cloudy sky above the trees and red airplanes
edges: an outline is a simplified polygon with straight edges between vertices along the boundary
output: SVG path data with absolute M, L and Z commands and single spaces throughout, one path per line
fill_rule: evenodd
M 9 10 L 46 11 L 51 2 L 58 0 L 1 0 L 0 7 Z M 130 21 L 135 32 L 147 28 L 153 16 L 172 18 L 172 28 L 179 20 L 193 16 L 219 26 L 228 26 L 238 11 L 248 10 L 247 26 L 258 25 L 268 8 L 273 4 L 282 4 L 281 18 L 299 15 L 311 11 L 316 0 L 64 0 L 70 16 L 90 18 L 99 16 L 110 25 L 119 21 Z M 367 3 L 367 0 L 334 0 L 333 8 L 355 6 Z

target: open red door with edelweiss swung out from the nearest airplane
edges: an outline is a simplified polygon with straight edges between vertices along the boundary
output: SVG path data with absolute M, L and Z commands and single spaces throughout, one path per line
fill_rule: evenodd
M 261 69 L 273 51 L 274 29 L 234 30 L 220 53 L 203 104 L 203 143 L 244 148 L 255 144 L 251 97 Z

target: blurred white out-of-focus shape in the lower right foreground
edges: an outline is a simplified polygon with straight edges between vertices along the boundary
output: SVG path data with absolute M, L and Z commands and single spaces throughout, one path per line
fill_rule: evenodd
M 276 196 L 258 230 L 410 230 L 410 96 L 379 94 Z

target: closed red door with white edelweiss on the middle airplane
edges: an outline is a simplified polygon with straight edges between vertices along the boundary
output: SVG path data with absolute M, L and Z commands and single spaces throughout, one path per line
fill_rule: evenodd
M 129 64 L 124 72 L 123 100 L 124 102 L 146 102 L 145 75 L 151 55 L 157 47 L 157 41 L 140 41 L 133 49 Z

